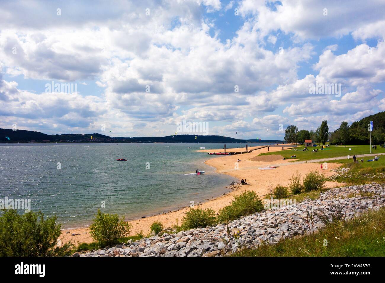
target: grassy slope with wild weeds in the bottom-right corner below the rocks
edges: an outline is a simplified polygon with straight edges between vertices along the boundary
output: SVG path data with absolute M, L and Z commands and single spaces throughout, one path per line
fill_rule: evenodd
M 243 249 L 231 256 L 385 256 L 385 208 L 331 223 L 314 234 Z

